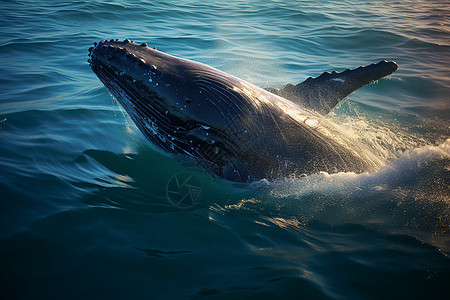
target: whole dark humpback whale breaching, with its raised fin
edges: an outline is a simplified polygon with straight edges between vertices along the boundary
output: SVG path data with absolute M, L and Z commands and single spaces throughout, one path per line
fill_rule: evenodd
M 234 182 L 376 170 L 324 115 L 398 68 L 381 61 L 262 89 L 128 39 L 94 43 L 88 62 L 157 149 Z

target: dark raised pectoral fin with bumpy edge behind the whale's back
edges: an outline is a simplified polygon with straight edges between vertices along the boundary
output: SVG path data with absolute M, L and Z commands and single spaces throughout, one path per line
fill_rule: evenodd
M 282 89 L 269 88 L 268 91 L 325 115 L 354 91 L 394 73 L 397 68 L 395 62 L 383 60 L 354 70 L 325 72 L 297 85 L 287 84 Z

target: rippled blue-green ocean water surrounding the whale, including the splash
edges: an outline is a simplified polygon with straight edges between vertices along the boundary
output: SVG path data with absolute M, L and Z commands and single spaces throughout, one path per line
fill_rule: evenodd
M 2 299 L 448 299 L 448 1 L 2 0 L 0 32 Z M 384 166 L 236 185 L 165 156 L 86 62 L 111 38 L 262 87 L 394 60 L 328 116 Z

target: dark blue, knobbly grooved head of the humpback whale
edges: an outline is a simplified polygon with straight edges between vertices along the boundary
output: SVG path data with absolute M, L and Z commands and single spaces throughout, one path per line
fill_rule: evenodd
M 95 43 L 88 62 L 157 148 L 200 158 L 232 181 L 252 180 L 237 158 L 237 133 L 229 122 L 242 99 L 225 103 L 233 98 L 226 81 L 218 79 L 225 73 L 130 40 Z M 215 81 L 216 90 L 208 80 Z

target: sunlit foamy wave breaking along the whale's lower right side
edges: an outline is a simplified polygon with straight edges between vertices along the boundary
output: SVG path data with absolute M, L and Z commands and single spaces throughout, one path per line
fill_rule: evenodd
M 263 193 L 226 209 L 270 211 L 275 223 L 288 220 L 299 228 L 317 220 L 376 226 L 449 252 L 449 185 L 450 139 L 408 151 L 373 174 L 320 173 L 261 182 L 255 187 Z

